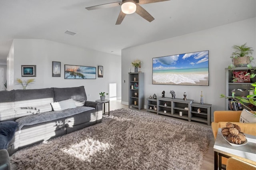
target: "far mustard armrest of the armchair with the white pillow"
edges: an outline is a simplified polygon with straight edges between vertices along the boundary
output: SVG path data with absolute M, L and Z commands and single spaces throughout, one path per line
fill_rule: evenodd
M 239 122 L 242 111 L 214 111 L 214 122 Z

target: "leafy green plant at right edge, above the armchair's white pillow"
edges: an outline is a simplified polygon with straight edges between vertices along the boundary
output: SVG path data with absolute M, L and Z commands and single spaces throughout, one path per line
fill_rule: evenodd
M 240 97 L 240 96 L 234 96 L 232 94 L 232 97 L 227 97 L 224 94 L 220 95 L 220 98 L 225 97 L 226 99 L 233 99 L 233 102 L 238 102 L 241 103 L 241 105 L 243 105 L 246 109 L 250 110 L 255 116 L 256 116 L 256 111 L 253 111 L 250 107 L 246 106 L 244 103 L 249 103 L 251 105 L 256 106 L 256 82 L 254 82 L 253 84 L 251 84 L 254 88 L 250 88 L 251 90 L 249 91 L 253 91 L 253 95 L 247 95 L 246 98 Z

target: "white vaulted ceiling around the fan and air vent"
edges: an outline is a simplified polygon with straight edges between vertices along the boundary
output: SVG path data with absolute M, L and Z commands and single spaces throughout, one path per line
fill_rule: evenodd
M 141 5 L 154 18 L 126 15 L 120 6 L 85 7 L 120 0 L 0 0 L 0 64 L 13 39 L 46 39 L 121 55 L 121 49 L 256 17 L 256 0 L 170 0 Z M 64 34 L 77 32 L 75 36 Z

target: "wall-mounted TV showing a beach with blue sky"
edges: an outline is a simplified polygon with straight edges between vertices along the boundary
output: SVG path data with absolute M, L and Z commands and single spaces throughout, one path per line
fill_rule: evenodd
M 209 51 L 153 58 L 153 84 L 209 85 Z

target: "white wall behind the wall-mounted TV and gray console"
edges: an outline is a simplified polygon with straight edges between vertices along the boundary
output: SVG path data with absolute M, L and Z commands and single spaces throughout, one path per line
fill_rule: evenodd
M 170 90 L 176 92 L 177 98 L 183 98 L 186 92 L 187 99 L 200 103 L 200 94 L 203 91 L 204 103 L 212 104 L 212 112 L 224 110 L 224 99 L 220 94 L 225 93 L 225 68 L 231 63 L 230 55 L 233 45 L 247 45 L 256 50 L 256 18 L 218 26 L 200 32 L 194 32 L 175 38 L 170 38 L 145 45 L 130 47 L 122 50 L 122 103 L 128 104 L 128 72 L 134 59 L 140 59 L 144 72 L 144 105 L 146 98 L 154 93 L 158 97 L 166 91 L 170 97 Z M 195 51 L 209 50 L 209 86 L 191 85 L 152 85 L 152 58 L 166 55 L 176 55 Z M 255 57 L 255 52 L 253 54 Z M 134 68 L 132 68 L 134 71 Z M 124 83 L 124 80 L 126 83 Z M 144 106 L 145 107 L 145 106 Z M 146 108 L 146 107 L 145 107 Z M 213 114 L 212 114 L 213 115 Z

